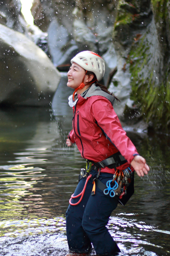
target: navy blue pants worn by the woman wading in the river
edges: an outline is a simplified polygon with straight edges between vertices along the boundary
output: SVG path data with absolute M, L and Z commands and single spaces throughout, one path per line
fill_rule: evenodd
M 112 180 L 113 175 L 100 173 L 99 180 L 104 184 Z M 75 190 L 78 195 L 85 184 L 82 178 Z M 90 179 L 82 201 L 75 206 L 69 205 L 66 212 L 66 233 L 69 248 L 74 252 L 88 252 L 93 247 L 98 255 L 115 255 L 120 252 L 106 225 L 111 212 L 117 207 L 118 200 L 104 195 L 103 191 L 96 187 L 95 195 L 91 195 L 93 181 Z M 78 202 L 80 197 L 72 199 L 72 203 Z

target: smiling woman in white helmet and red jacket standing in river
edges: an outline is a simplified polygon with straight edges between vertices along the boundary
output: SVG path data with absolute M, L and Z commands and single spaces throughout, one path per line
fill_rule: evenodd
M 69 97 L 74 114 L 73 130 L 66 144 L 76 143 L 88 166 L 87 170 L 81 169 L 80 181 L 66 212 L 68 245 L 74 252 L 87 253 L 93 244 L 97 255 L 116 255 L 120 249 L 106 228 L 110 214 L 118 203 L 124 205 L 133 194 L 134 170 L 138 176 L 144 176 L 149 166 L 114 112 L 115 97 L 98 84 L 105 73 L 104 60 L 96 53 L 84 51 L 71 64 L 67 86 L 75 90 Z M 115 172 L 131 177 L 130 185 L 120 193 L 116 192 L 120 181 L 112 181 Z

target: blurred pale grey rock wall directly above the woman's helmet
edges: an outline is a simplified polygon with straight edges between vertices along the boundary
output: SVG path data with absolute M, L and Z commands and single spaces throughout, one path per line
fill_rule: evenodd
M 36 22 L 41 9 L 44 20 L 50 23 L 48 44 L 55 66 L 70 63 L 70 59 L 80 51 L 92 50 L 101 55 L 106 53 L 112 41 L 116 2 L 34 1 L 33 6 L 37 6 L 37 14 L 34 9 Z M 43 24 L 41 17 L 39 22 Z

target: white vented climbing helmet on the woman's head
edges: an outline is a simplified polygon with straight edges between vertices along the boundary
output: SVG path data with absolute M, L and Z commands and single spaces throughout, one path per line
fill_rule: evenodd
M 100 81 L 105 74 L 105 61 L 96 53 L 90 51 L 78 53 L 71 59 L 71 64 L 73 62 L 87 71 L 92 71 L 96 75 L 97 81 Z

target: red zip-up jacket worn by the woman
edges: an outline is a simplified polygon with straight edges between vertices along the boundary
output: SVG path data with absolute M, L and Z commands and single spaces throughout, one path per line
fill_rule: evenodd
M 123 130 L 110 101 L 103 96 L 83 98 L 78 95 L 73 109 L 73 130 L 69 139 L 76 143 L 81 156 L 98 162 L 120 151 L 128 163 L 117 169 L 129 166 L 138 152 Z M 114 173 L 115 170 L 105 167 L 101 172 Z

